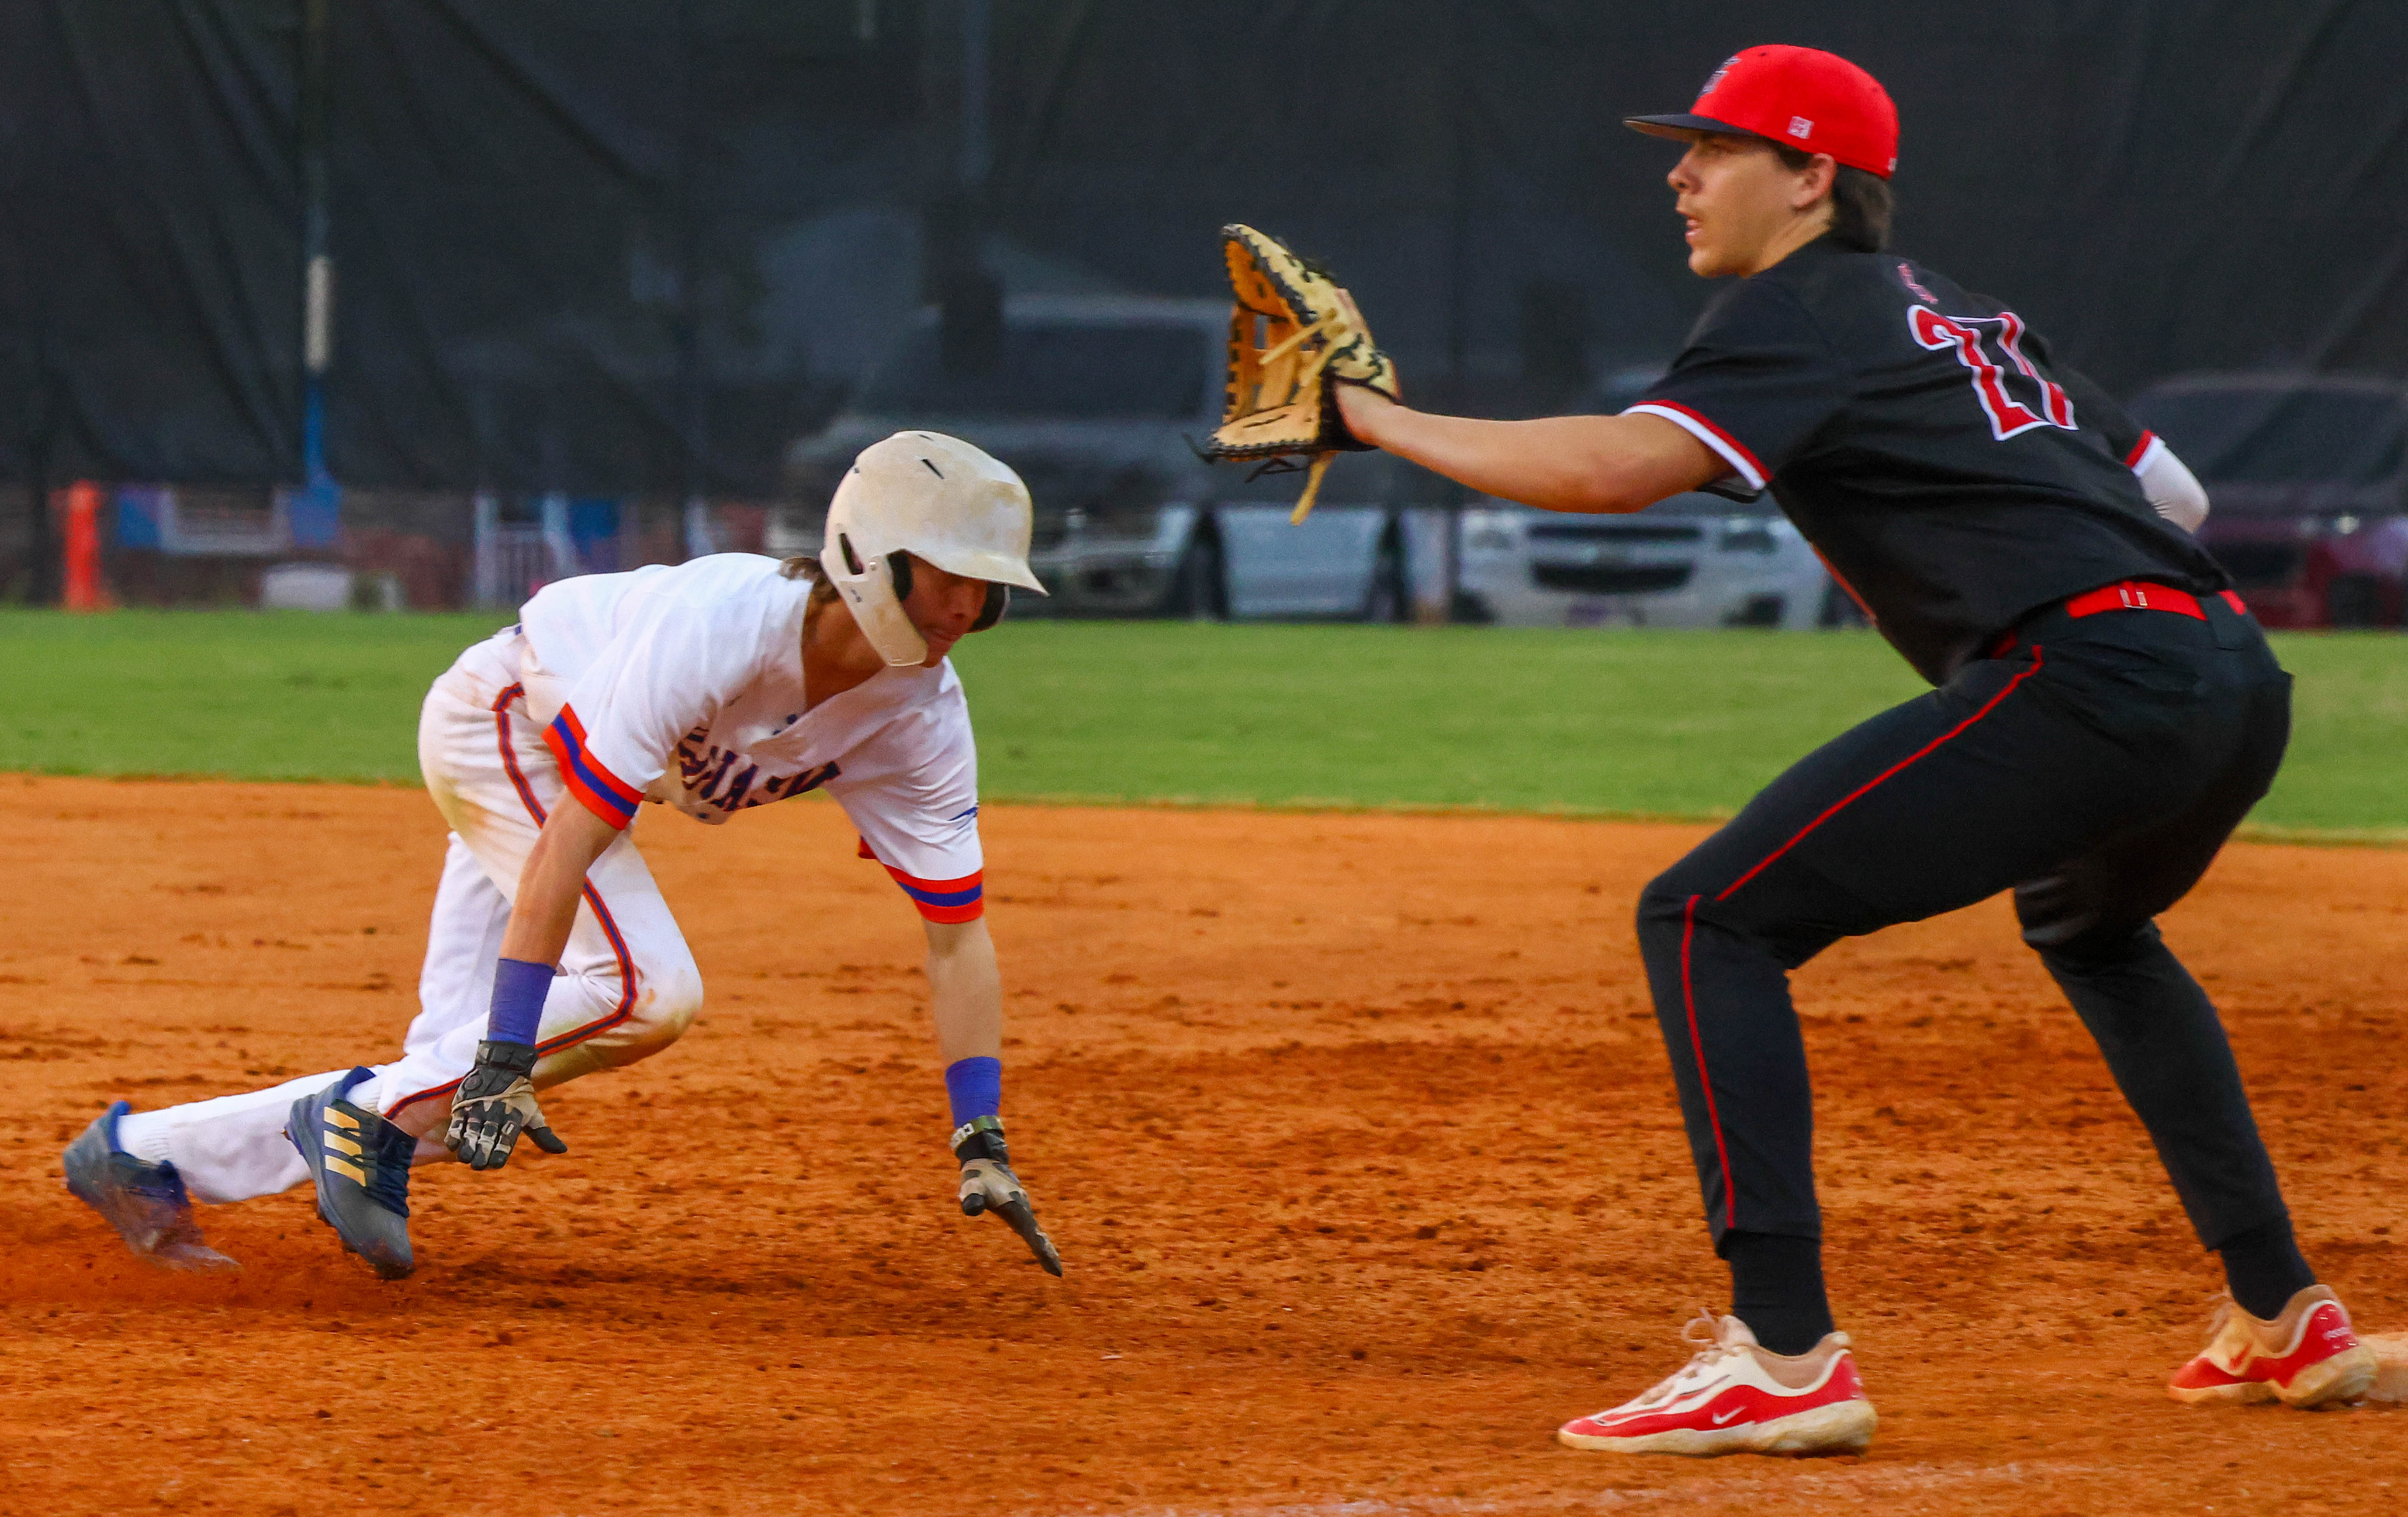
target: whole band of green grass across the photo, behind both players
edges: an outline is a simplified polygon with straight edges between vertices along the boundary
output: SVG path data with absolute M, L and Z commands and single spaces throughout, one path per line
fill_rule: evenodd
M 417 780 L 479 616 L 0 612 L 0 771 Z M 2290 636 L 2254 824 L 2408 838 L 2408 638 Z M 956 655 L 992 799 L 1717 816 L 1919 681 L 1869 633 L 1007 624 Z

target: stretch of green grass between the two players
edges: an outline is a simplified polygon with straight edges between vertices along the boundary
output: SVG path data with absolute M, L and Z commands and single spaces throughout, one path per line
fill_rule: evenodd
M 956 653 L 995 795 L 1698 816 L 1917 689 L 1847 633 L 1007 631 Z

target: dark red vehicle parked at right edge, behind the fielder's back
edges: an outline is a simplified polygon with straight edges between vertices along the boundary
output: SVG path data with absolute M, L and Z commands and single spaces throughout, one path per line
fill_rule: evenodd
M 2389 380 L 2194 373 L 2136 421 L 2208 491 L 2199 539 L 2266 626 L 2398 626 L 2408 609 L 2408 392 Z

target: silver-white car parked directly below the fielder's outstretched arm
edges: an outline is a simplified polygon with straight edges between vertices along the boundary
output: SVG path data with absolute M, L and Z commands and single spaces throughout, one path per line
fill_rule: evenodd
M 1837 626 L 1854 604 L 1770 503 L 1683 494 L 1633 515 L 1483 501 L 1464 595 L 1510 626 Z

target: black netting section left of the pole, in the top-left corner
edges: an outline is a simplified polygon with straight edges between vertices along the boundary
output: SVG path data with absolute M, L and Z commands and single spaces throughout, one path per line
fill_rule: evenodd
M 0 7 L 0 474 L 296 470 L 296 58 L 289 5 Z

